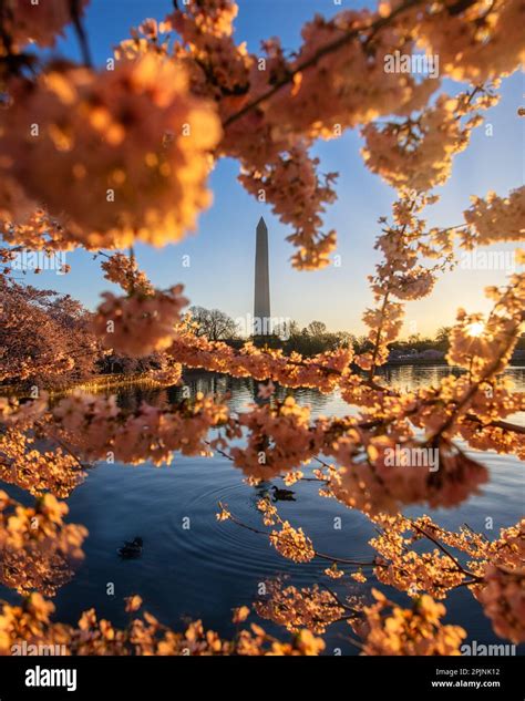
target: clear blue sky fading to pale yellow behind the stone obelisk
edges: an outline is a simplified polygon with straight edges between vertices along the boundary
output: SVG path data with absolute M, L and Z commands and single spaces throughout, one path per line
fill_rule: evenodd
M 349 9 L 372 4 L 342 0 L 342 8 Z M 262 39 L 272 35 L 279 35 L 287 49 L 294 49 L 305 21 L 316 12 L 328 16 L 342 9 L 333 0 L 240 0 L 239 7 L 236 39 L 247 41 L 254 53 Z M 85 24 L 95 63 L 102 65 L 112 47 L 128 37 L 131 27 L 148 17 L 162 20 L 171 9 L 171 0 L 91 0 Z M 59 42 L 58 51 L 80 58 L 71 31 Z M 459 87 L 453 83 L 447 86 L 452 91 Z M 519 74 L 503 82 L 501 103 L 486 114 L 492 136 L 486 135 L 484 126 L 477 128 L 470 148 L 456 156 L 451 179 L 436 189 L 440 203 L 426 212 L 431 226 L 461 224 L 471 194 L 485 195 L 490 189 L 506 194 L 523 183 L 525 120 L 517 116 L 518 106 L 525 102 L 523 93 Z M 200 216 L 196 235 L 164 249 L 137 246 L 141 268 L 157 287 L 183 282 L 192 303 L 219 308 L 234 318 L 244 317 L 253 311 L 255 227 L 262 215 L 269 229 L 272 316 L 296 319 L 301 326 L 319 319 L 331 330 L 362 333 L 361 313 L 372 303 L 367 275 L 373 272 L 378 260 L 373 250 L 377 220 L 390 215 L 395 193 L 367 171 L 359 153 L 361 145 L 359 133 L 352 131 L 339 140 L 321 142 L 313 150 L 321 159 L 322 172 L 340 173 L 339 198 L 328 208 L 325 228 L 338 231 L 336 252 L 342 257 L 341 267 L 313 272 L 294 270 L 289 262 L 292 248 L 285 240 L 290 230 L 271 214 L 269 205 L 261 205 L 245 193 L 236 179 L 238 164 L 225 159 L 212 175 L 214 205 Z M 189 268 L 182 265 L 187 255 Z M 68 291 L 94 308 L 100 292 L 113 286 L 102 278 L 99 261 L 90 254 L 70 254 L 68 262 L 72 270 L 66 276 L 45 271 L 31 275 L 28 281 Z M 430 298 L 409 302 L 405 333 L 433 333 L 440 326 L 451 324 L 457 306 L 471 311 L 488 309 L 483 288 L 501 284 L 504 278 L 504 271 L 462 269 L 445 275 Z

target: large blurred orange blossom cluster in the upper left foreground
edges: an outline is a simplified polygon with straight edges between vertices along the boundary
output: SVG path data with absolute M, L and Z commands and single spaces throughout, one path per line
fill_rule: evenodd
M 34 208 L 45 203 L 75 245 L 177 240 L 210 204 L 208 152 L 220 125 L 181 66 L 152 53 L 97 73 L 55 65 L 34 83 L 12 81 L 10 95 L 2 177 L 22 184 Z

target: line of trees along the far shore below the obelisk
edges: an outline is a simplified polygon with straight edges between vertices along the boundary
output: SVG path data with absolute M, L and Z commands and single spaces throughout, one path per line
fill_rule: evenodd
M 0 385 L 68 386 L 100 375 L 143 374 L 163 367 L 162 353 L 128 358 L 104 350 L 91 331 L 91 312 L 70 296 L 14 281 L 3 282 L 1 288 Z M 298 352 L 307 358 L 339 348 L 352 348 L 356 353 L 372 348 L 366 336 L 329 331 L 322 321 L 311 321 L 302 328 L 290 321 L 276 327 L 271 334 L 246 338 L 235 320 L 218 309 L 192 307 L 187 319 L 197 336 L 236 348 L 250 340 L 258 347 L 280 348 L 287 354 Z M 434 351 L 429 360 L 439 360 L 437 353 L 444 358 L 449 331 L 443 327 L 434 338 L 413 334 L 395 341 L 390 344 L 391 360 L 410 362 L 413 357 L 416 361 L 418 354 L 423 353 L 424 358 L 425 351 Z M 525 334 L 517 343 L 515 358 L 521 360 L 523 355 Z

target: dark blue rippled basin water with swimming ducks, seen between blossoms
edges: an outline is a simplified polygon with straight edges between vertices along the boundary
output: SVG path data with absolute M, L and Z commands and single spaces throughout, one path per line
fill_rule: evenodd
M 411 389 L 435 383 L 447 371 L 444 367 L 405 365 L 385 370 L 383 374 L 397 388 Z M 524 391 L 525 367 L 511 368 L 507 373 L 516 390 Z M 228 391 L 231 395 L 229 404 L 238 411 L 251 403 L 256 393 L 251 381 L 210 374 L 191 374 L 186 384 L 193 392 Z M 279 390 L 280 395 L 284 392 Z M 122 406 L 131 406 L 142 400 L 158 403 L 179 396 L 179 388 L 144 390 L 135 386 L 121 391 L 119 401 Z M 295 396 L 298 402 L 309 404 L 313 415 L 349 413 L 348 404 L 337 393 L 322 395 L 311 390 L 298 390 Z M 525 414 L 515 414 L 513 421 L 523 424 Z M 467 523 L 472 528 L 483 530 L 490 539 L 497 537 L 500 528 L 515 524 L 523 515 L 523 463 L 492 452 L 482 457 L 490 467 L 491 478 L 480 495 L 454 509 L 413 507 L 405 513 L 411 516 L 428 513 L 447 528 Z M 274 484 L 282 486 L 280 480 Z M 101 618 L 125 626 L 128 617 L 124 614 L 123 598 L 138 594 L 144 599 L 144 608 L 163 623 L 181 629 L 185 620 L 199 618 L 205 628 L 227 637 L 235 631 L 230 622 L 231 609 L 249 606 L 257 598 L 259 584 L 276 576 L 287 577 L 289 584 L 299 587 L 325 581 L 340 592 L 369 596 L 373 577 L 369 577 L 364 585 L 354 583 L 350 587 L 332 583 L 321 575 L 326 561 L 316 558 L 307 564 L 294 564 L 278 555 L 268 538 L 230 522 L 217 522 L 217 503 L 222 501 L 246 524 L 264 528 L 256 503 L 269 486 L 246 485 L 240 471 L 220 455 L 213 458 L 176 455 L 169 466 L 163 467 L 99 464 L 68 499 L 68 520 L 84 524 L 89 537 L 84 543 L 83 564 L 54 598 L 55 620 L 75 623 L 83 610 L 95 607 Z M 1 482 L 0 488 L 7 488 L 25 503 L 31 502 L 20 489 Z M 292 525 L 302 526 L 319 551 L 371 559 L 373 550 L 368 540 L 374 532 L 364 515 L 334 499 L 319 497 L 316 483 L 296 483 L 291 488 L 296 501 L 279 502 L 279 513 Z M 336 516 L 341 518 L 340 530 L 333 528 Z M 493 519 L 493 530 L 485 528 L 487 518 Z M 185 519 L 189 519 L 188 529 L 183 527 L 188 523 Z M 117 548 L 123 540 L 135 536 L 144 540 L 142 557 L 121 559 Z M 110 583 L 114 585 L 113 596 L 106 594 Z M 383 585 L 381 589 L 405 605 L 409 601 L 405 595 L 394 589 Z M 0 598 L 18 600 L 1 586 Z M 445 605 L 446 620 L 465 627 L 467 641 L 476 640 L 477 645 L 506 642 L 493 633 L 488 619 L 466 588 L 453 591 Z M 278 637 L 288 635 L 257 616 L 251 620 Z M 328 628 L 326 653 L 357 654 L 358 650 L 347 640 L 347 633 L 351 632 L 347 623 Z

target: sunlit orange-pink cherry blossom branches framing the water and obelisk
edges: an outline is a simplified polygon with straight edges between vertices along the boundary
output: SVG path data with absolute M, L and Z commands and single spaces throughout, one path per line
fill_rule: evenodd
M 525 458 L 516 420 L 525 393 L 504 374 L 524 329 L 525 275 L 515 271 L 485 290 L 488 315 L 457 310 L 446 360 L 461 374 L 400 391 L 379 372 L 406 305 L 430 296 L 461 251 L 524 239 L 518 184 L 508 193 L 473 193 L 457 226 L 429 229 L 425 218 L 439 200 L 435 187 L 446 183 L 455 155 L 500 100 L 502 80 L 524 58 L 523 3 L 382 0 L 374 10 L 316 16 L 292 54 L 274 38 L 256 55 L 235 41 L 235 2 L 192 0 L 175 3 L 163 21 L 145 19 L 99 69 L 89 59 L 87 6 L 0 6 L 0 381 L 34 382 L 29 396 L 0 398 L 0 480 L 34 498 L 28 506 L 0 491 L 0 583 L 24 597 L 1 604 L 0 653 L 28 640 L 64 645 L 72 654 L 319 654 L 327 628 L 347 621 L 362 654 L 459 654 L 466 632 L 442 620 L 459 587 L 470 590 L 497 636 L 524 641 L 524 523 L 491 542 L 403 509 L 464 504 L 490 480 L 482 451 Z M 83 64 L 48 60 L 41 49 L 54 47 L 71 21 Z M 441 76 L 461 84 L 456 94 L 442 91 L 440 80 L 384 70 L 395 52 L 420 50 L 440 56 Z M 364 165 L 395 190 L 391 214 L 378 213 L 380 260 L 369 271 L 373 303 L 362 317 L 368 350 L 343 346 L 307 358 L 199 336 L 185 316 L 183 286 L 173 280 L 157 289 L 133 246 L 163 247 L 195 231 L 213 200 L 209 175 L 228 157 L 238 161 L 247 193 L 268 203 L 290 231 L 291 265 L 329 266 L 338 235 L 323 218 L 337 206 L 338 174 L 322 173 L 312 148 L 351 128 L 363 136 Z M 93 251 L 122 291 L 104 292 L 86 318 L 71 298 L 59 310 L 49 293 L 17 281 L 12 261 L 23 249 Z M 31 340 L 35 326 L 49 339 L 47 352 Z M 3 340 L 8 332 L 16 342 Z M 79 355 L 69 346 L 73 333 L 84 343 Z M 131 359 L 156 354 L 155 378 L 166 384 L 179 383 L 188 369 L 250 378 L 265 383 L 262 401 L 234 411 L 227 398 L 197 393 L 168 406 L 123 408 L 115 396 L 84 390 L 48 393 L 50 364 L 80 372 L 95 349 Z M 338 391 L 348 412 L 312 417 L 291 392 L 278 399 L 277 384 Z M 373 578 L 368 600 L 317 583 L 298 589 L 268 579 L 253 610 L 235 611 L 231 640 L 200 621 L 176 632 L 148 612 L 125 628 L 93 609 L 78 626 L 53 621 L 49 599 L 74 575 L 87 536 L 83 525 L 65 523 L 65 499 L 99 462 L 169 465 L 177 452 L 218 452 L 251 485 L 313 480 L 320 498 L 362 512 L 377 530 L 370 561 L 319 551 L 268 498 L 258 503 L 266 529 L 244 523 L 227 504 L 218 518 L 233 522 L 225 528 L 267 537 L 284 558 L 323 560 L 330 583 L 368 586 Z M 432 453 L 436 470 L 392 463 L 400 453 Z M 430 549 L 421 551 L 422 543 Z M 405 592 L 405 606 L 380 587 Z M 141 607 L 141 597 L 127 599 L 131 616 Z M 253 615 L 296 637 L 270 636 L 247 622 Z

